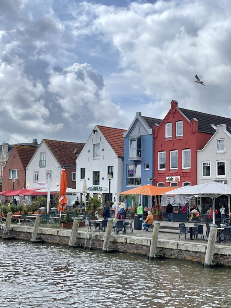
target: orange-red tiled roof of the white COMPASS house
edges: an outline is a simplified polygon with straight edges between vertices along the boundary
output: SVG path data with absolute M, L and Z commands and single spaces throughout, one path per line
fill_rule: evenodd
M 107 142 L 113 148 L 117 156 L 124 156 L 124 132 L 126 129 L 112 128 L 97 125 Z

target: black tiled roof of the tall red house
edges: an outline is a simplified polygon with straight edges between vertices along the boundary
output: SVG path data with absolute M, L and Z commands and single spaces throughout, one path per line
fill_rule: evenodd
M 188 118 L 190 121 L 192 118 L 196 118 L 198 120 L 198 131 L 214 134 L 216 130 L 212 128 L 210 124 L 219 125 L 226 124 L 227 131 L 231 132 L 231 119 L 225 118 L 219 115 L 210 115 L 208 113 L 193 111 L 184 108 L 178 108 L 181 112 Z

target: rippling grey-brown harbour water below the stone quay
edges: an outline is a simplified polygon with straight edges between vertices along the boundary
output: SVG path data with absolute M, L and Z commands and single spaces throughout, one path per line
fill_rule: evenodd
M 231 307 L 231 269 L 0 241 L 1 307 Z

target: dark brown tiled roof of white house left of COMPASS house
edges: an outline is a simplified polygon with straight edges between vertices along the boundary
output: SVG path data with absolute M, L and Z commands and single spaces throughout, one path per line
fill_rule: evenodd
M 80 153 L 84 143 L 43 139 L 61 166 L 76 167 L 75 154 Z

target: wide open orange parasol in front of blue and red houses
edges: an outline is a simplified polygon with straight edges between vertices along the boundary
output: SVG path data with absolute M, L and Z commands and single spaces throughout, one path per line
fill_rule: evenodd
M 117 195 L 130 194 L 130 195 L 158 196 L 161 195 L 162 193 L 166 193 L 170 190 L 173 190 L 174 188 L 176 189 L 176 187 L 157 187 L 154 185 L 147 184 L 126 190 L 125 192 L 118 193 Z

